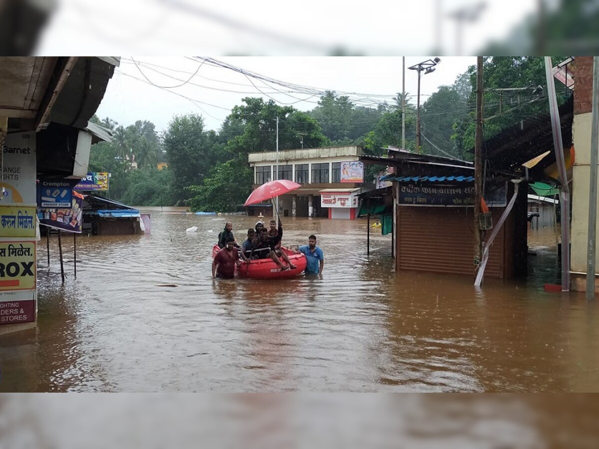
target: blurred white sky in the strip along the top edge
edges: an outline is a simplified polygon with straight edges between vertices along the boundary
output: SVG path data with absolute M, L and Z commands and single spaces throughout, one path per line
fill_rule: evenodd
M 476 54 L 490 41 L 504 40 L 540 5 L 539 0 L 44 3 L 59 6 L 37 49 L 41 54 L 265 56 L 329 55 L 334 48 L 368 56 Z M 456 11 L 464 20 L 455 19 Z

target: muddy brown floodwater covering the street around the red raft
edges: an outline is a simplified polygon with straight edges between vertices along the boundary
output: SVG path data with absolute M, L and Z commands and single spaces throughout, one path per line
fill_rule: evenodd
M 366 220 L 283 218 L 315 233 L 322 278 L 212 280 L 225 220 L 152 209 L 152 233 L 38 244 L 38 323 L 0 336 L 2 392 L 591 392 L 599 310 L 559 282 L 555 236 L 531 232 L 529 276 L 485 281 L 392 270 Z M 186 233 L 198 226 L 196 233 Z M 161 287 L 172 284 L 176 287 Z

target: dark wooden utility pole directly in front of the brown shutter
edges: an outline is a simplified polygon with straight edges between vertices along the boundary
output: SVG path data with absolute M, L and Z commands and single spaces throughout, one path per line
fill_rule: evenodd
M 483 57 L 476 58 L 476 131 L 474 134 L 474 265 L 480 264 L 482 244 L 480 239 L 480 200 L 483 192 Z

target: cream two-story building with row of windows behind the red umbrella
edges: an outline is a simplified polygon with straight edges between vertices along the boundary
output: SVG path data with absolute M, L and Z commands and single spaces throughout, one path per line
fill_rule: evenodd
M 325 147 L 250 153 L 255 189 L 275 179 L 295 181 L 302 186 L 279 196 L 279 213 L 291 217 L 355 219 L 358 193 L 364 184 L 359 162 L 362 147 Z

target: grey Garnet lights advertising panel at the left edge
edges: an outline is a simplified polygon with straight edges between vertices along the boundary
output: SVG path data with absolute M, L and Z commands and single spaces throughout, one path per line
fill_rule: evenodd
M 2 147 L 0 206 L 34 206 L 35 175 L 35 132 L 7 134 Z

